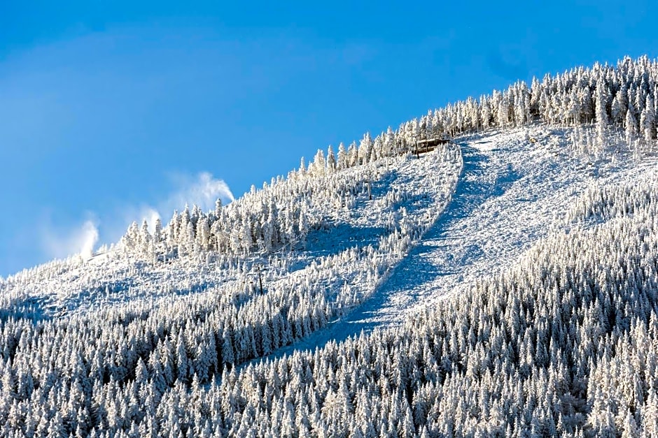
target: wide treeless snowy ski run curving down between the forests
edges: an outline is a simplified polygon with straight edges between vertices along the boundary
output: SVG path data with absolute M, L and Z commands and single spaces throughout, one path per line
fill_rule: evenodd
M 630 157 L 574 156 L 566 131 L 545 126 L 456 139 L 463 172 L 451 203 L 361 305 L 265 360 L 399 324 L 435 300 L 468 289 L 523 256 L 555 228 L 588 185 L 628 181 L 646 166 Z M 253 362 L 259 362 L 263 358 Z

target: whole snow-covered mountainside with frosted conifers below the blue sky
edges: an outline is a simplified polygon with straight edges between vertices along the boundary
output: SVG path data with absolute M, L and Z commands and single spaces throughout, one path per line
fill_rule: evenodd
M 0 433 L 658 436 L 657 96 L 517 82 L 0 279 Z

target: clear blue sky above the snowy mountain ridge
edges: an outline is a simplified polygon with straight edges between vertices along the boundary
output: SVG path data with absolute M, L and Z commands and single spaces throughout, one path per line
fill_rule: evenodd
M 658 52 L 654 1 L 239 3 L 0 2 L 0 275 L 85 221 L 111 242 L 169 219 L 200 173 L 239 196 L 429 108 Z

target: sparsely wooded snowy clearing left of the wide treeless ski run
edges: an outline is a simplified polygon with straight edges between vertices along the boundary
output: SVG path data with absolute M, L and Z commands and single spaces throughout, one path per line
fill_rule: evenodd
M 351 301 L 359 302 L 407 251 L 405 244 L 399 254 L 386 251 L 388 246 L 381 247 L 381 239 L 397 230 L 394 240 L 402 240 L 402 228 L 407 223 L 414 229 L 428 228 L 449 203 L 461 159 L 454 146 L 447 146 L 445 152 L 453 158 L 446 161 L 435 151 L 420 159 L 389 157 L 344 170 L 347 177 L 350 173 L 361 178 L 367 175 L 369 182 L 355 187 L 356 193 L 344 206 L 318 198 L 321 206 L 314 214 L 323 225 L 309 231 L 303 250 L 283 248 L 269 256 L 249 254 L 227 267 L 212 253 L 153 264 L 112 249 L 87 260 L 73 257 L 54 261 L 0 282 L 0 297 L 11 298 L 2 310 L 10 313 L 13 307 L 25 314 L 28 308 L 27 313 L 36 319 L 52 319 L 113 306 L 158 307 L 172 298 L 193 295 L 238 293 L 244 294 L 240 300 L 245 302 L 250 296 L 258 299 L 258 270 L 267 293 L 291 294 L 299 289 L 296 286 L 315 284 L 326 288 L 326 298 L 335 301 L 347 285 L 356 297 Z M 409 243 L 418 242 L 419 237 L 409 236 Z M 374 265 L 372 251 L 379 257 Z M 350 263 L 341 263 L 346 257 Z

